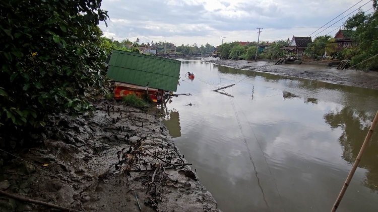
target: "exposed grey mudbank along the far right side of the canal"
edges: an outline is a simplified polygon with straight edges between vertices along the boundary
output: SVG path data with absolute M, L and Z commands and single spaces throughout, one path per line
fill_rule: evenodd
M 335 67 L 309 64 L 274 65 L 276 61 L 255 62 L 246 60 L 214 60 L 214 58 L 203 58 L 203 61 L 243 70 L 378 89 L 377 71 L 337 70 Z

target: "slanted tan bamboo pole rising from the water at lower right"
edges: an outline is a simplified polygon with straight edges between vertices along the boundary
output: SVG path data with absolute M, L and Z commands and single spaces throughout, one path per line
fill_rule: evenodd
M 357 158 L 356 158 L 356 161 L 354 161 L 354 164 L 352 166 L 352 169 L 350 170 L 349 174 L 348 174 L 348 177 L 346 178 L 345 180 L 345 183 L 343 185 L 343 187 L 341 188 L 341 191 L 339 193 L 339 196 L 337 197 L 336 201 L 335 201 L 335 204 L 333 205 L 332 207 L 332 210 L 331 212 L 335 212 L 336 209 L 339 207 L 339 204 L 341 202 L 341 199 L 343 198 L 344 194 L 345 194 L 345 191 L 346 189 L 348 188 L 349 186 L 349 183 L 350 181 L 352 180 L 352 177 L 354 175 L 354 172 L 356 171 L 357 169 L 357 166 L 359 164 L 359 162 L 361 161 L 361 158 L 362 158 L 362 154 L 363 154 L 363 151 L 365 150 L 365 148 L 367 147 L 367 144 L 369 143 L 370 139 L 371 139 L 371 136 L 374 132 L 374 128 L 375 128 L 375 125 L 376 123 L 378 122 L 378 111 L 376 112 L 375 114 L 375 117 L 374 117 L 374 120 L 373 122 L 371 123 L 371 126 L 370 126 L 370 129 L 369 131 L 367 132 L 367 135 L 365 137 L 365 140 L 363 141 L 363 144 L 361 146 L 361 149 L 360 149 L 360 152 L 358 153 L 357 155 Z

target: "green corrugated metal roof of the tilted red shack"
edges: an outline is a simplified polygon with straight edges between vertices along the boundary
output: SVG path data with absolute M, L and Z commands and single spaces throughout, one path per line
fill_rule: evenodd
M 107 76 L 125 82 L 163 89 L 177 90 L 181 61 L 163 57 L 113 50 Z

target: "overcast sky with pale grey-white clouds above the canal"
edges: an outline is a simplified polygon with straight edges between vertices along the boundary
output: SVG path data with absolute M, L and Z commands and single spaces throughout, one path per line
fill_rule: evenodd
M 220 45 L 221 36 L 226 37 L 224 42 L 257 41 L 256 28 L 260 27 L 264 28 L 260 40 L 274 41 L 308 36 L 359 1 L 103 0 L 101 8 L 108 11 L 110 20 L 108 27 L 101 23 L 100 28 L 106 37 L 119 41 L 138 37 L 140 43 Z M 363 0 L 327 26 L 365 3 L 363 11 L 372 8 L 371 1 Z M 319 35 L 334 36 L 346 19 Z

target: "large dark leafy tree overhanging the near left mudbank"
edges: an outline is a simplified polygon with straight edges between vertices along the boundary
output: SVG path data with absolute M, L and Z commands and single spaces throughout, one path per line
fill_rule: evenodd
M 0 2 L 0 132 L 45 124 L 46 116 L 91 108 L 103 89 L 101 0 Z M 21 127 L 22 126 L 22 127 Z M 21 128 L 20 128 L 21 127 Z

